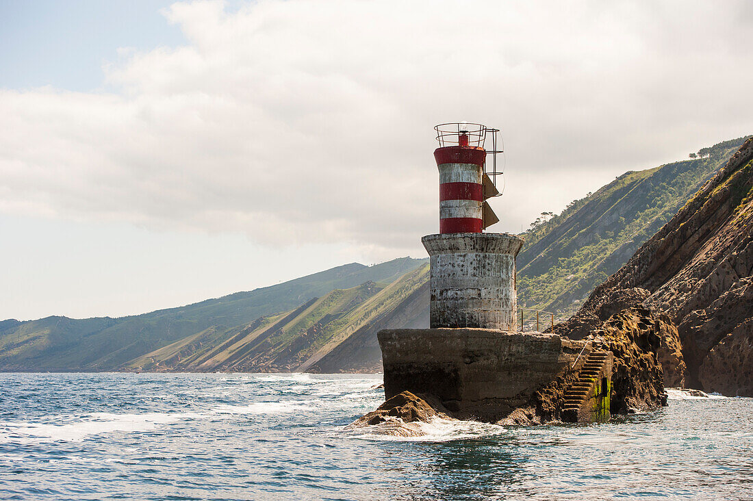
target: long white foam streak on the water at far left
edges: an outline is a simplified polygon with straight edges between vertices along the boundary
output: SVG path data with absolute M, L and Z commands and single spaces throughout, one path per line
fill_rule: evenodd
M 193 415 L 193 414 L 191 414 Z M 82 441 L 90 435 L 112 432 L 144 432 L 175 423 L 189 414 L 89 414 L 71 423 L 0 423 L 0 442 Z

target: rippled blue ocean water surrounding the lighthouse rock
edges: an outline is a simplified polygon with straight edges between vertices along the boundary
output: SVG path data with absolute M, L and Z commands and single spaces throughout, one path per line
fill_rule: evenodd
M 380 376 L 0 374 L 0 499 L 753 499 L 753 399 L 602 425 L 347 425 Z

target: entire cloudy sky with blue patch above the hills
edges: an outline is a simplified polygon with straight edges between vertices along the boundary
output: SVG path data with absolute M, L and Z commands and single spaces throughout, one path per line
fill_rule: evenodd
M 501 130 L 519 232 L 753 133 L 751 2 L 0 0 L 0 319 L 425 257 L 433 126 Z

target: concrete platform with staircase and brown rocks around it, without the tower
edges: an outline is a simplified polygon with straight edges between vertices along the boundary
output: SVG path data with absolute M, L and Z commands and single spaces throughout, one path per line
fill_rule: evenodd
M 480 328 L 383 330 L 379 341 L 386 402 L 358 420 L 362 425 L 436 415 L 523 425 L 601 422 L 666 405 L 664 374 L 678 370 L 670 356 L 676 328 L 647 308 L 620 310 L 580 341 Z

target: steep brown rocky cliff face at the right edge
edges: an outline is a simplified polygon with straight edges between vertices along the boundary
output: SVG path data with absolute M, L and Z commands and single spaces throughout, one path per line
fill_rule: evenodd
M 652 307 L 677 325 L 687 364 L 684 383 L 707 392 L 753 396 L 751 275 L 753 139 L 748 139 L 555 331 L 584 338 L 599 328 L 608 311 Z

